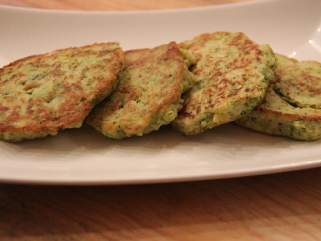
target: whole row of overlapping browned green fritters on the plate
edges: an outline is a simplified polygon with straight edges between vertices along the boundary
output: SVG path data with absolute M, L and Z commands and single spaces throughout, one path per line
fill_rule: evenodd
M 87 115 L 114 139 L 170 123 L 194 135 L 235 121 L 314 140 L 321 138 L 321 64 L 275 55 L 243 33 L 214 32 L 125 53 L 117 43 L 67 48 L 0 69 L 0 139 L 56 135 Z

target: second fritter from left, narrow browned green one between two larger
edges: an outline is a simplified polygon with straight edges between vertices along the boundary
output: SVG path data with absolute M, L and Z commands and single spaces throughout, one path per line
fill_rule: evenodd
M 105 136 L 141 136 L 169 124 L 182 107 L 181 93 L 195 82 L 195 58 L 175 42 L 125 52 L 125 70 L 115 92 L 97 105 L 87 123 Z

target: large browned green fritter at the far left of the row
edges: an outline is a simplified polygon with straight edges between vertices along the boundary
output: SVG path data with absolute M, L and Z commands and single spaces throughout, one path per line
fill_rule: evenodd
M 66 48 L 0 69 L 0 139 L 22 141 L 78 128 L 116 87 L 124 67 L 118 43 Z

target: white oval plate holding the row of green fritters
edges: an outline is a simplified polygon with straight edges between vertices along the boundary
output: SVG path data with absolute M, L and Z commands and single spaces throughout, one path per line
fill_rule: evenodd
M 204 32 L 242 31 L 298 59 L 321 61 L 321 1 L 135 12 L 0 7 L 0 66 L 32 54 L 93 42 L 125 49 L 180 42 Z M 321 166 L 321 140 L 299 142 L 233 124 L 184 137 L 169 127 L 122 141 L 88 126 L 22 143 L 0 142 L 0 181 L 124 184 L 201 180 Z

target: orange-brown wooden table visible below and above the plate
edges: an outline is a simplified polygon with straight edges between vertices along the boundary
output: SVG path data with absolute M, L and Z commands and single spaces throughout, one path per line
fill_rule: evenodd
M 236 1 L 243 0 L 0 0 L 0 4 L 134 10 Z M 154 185 L 0 184 L 0 241 L 321 240 L 320 186 L 321 168 Z

